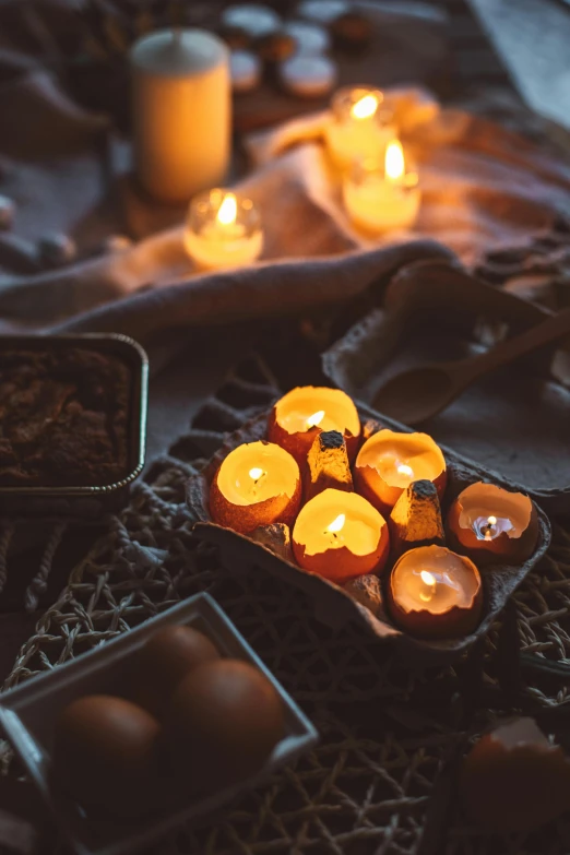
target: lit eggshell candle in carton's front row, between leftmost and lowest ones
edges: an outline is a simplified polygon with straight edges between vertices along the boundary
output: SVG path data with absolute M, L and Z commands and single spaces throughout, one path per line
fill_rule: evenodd
M 389 549 L 384 518 L 356 492 L 323 490 L 305 504 L 293 530 L 299 567 L 339 584 L 379 573 Z

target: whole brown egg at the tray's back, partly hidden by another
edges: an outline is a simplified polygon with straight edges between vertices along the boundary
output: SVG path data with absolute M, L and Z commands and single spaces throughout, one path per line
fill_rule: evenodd
M 133 657 L 130 694 L 161 717 L 180 680 L 198 665 L 218 658 L 214 643 L 192 627 L 158 629 Z

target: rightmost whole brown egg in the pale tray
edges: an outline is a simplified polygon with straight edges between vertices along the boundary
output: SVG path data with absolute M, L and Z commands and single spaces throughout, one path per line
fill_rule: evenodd
M 277 692 L 237 660 L 206 663 L 186 677 L 164 725 L 170 769 L 186 785 L 205 789 L 257 772 L 284 732 Z

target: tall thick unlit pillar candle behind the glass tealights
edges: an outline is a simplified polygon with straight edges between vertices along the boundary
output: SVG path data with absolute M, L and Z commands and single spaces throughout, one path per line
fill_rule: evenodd
M 158 31 L 131 51 L 134 156 L 147 192 L 187 202 L 223 181 L 230 154 L 226 46 L 201 29 Z

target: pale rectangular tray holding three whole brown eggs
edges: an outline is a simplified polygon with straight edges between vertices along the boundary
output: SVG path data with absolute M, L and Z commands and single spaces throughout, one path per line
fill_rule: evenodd
M 180 624 L 204 632 L 223 655 L 249 662 L 263 672 L 282 699 L 286 735 L 257 775 L 200 801 L 164 808 L 153 818 L 134 823 L 90 819 L 75 803 L 58 792 L 51 780 L 50 751 L 56 716 L 63 706 L 84 694 L 118 693 L 124 685 L 128 657 L 159 627 Z M 207 594 L 198 594 L 105 646 L 7 692 L 0 705 L 0 723 L 78 855 L 123 855 L 147 847 L 177 826 L 203 824 L 210 816 L 292 763 L 318 741 L 312 724 Z

